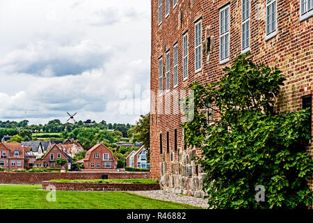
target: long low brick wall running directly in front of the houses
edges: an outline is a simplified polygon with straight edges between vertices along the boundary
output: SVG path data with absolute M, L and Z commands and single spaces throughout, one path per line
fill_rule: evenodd
M 41 184 L 45 180 L 77 179 L 149 179 L 149 172 L 67 172 L 67 173 L 6 173 L 0 172 L 0 184 Z

